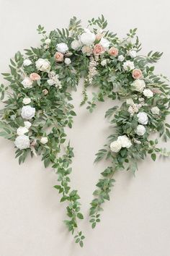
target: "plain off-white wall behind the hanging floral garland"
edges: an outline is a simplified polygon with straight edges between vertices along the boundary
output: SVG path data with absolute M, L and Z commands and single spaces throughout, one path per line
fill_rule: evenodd
M 8 71 L 9 58 L 23 48 L 39 45 L 36 27 L 47 30 L 66 27 L 70 17 L 86 20 L 104 14 L 109 29 L 124 36 L 138 27 L 143 53 L 164 51 L 156 70 L 169 76 L 170 1 L 168 0 L 1 0 L 0 71 Z M 170 77 L 170 76 L 169 76 Z M 2 80 L 2 77 L 1 77 Z M 81 85 L 73 93 L 78 116 L 68 131 L 76 157 L 71 179 L 79 189 L 87 216 L 94 185 L 104 163 L 93 164 L 94 154 L 109 135 L 101 103 L 90 115 L 79 108 Z M 126 172 L 117 175 L 110 202 L 104 205 L 102 222 L 91 231 L 86 217 L 84 249 L 72 242 L 63 226 L 64 204 L 60 204 L 55 174 L 45 170 L 40 158 L 19 166 L 11 142 L 0 139 L 0 256 L 169 256 L 170 172 L 169 159 L 140 163 L 136 178 Z M 170 143 L 167 143 L 170 148 Z

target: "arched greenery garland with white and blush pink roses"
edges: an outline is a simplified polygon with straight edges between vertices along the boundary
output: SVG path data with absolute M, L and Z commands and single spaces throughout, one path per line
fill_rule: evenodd
M 100 211 L 115 183 L 117 171 L 125 169 L 135 174 L 140 160 L 156 154 L 170 155 L 158 147 L 158 140 L 150 140 L 158 132 L 164 141 L 170 137 L 169 85 L 163 75 L 154 74 L 154 66 L 161 53 L 150 51 L 147 56 L 138 54 L 141 49 L 136 28 L 120 39 L 109 32 L 107 20 L 102 17 L 89 20 L 81 27 L 76 17 L 68 29 L 56 29 L 42 35 L 39 48 L 24 50 L 10 60 L 9 73 L 3 73 L 9 85 L 1 85 L 0 135 L 14 142 L 16 158 L 23 163 L 27 155 L 41 155 L 45 167 L 51 166 L 58 176 L 54 187 L 66 201 L 65 221 L 75 242 L 84 245 L 84 234 L 79 231 L 81 213 L 79 193 L 71 189 L 70 178 L 73 148 L 68 142 L 65 127 L 72 127 L 73 111 L 70 90 L 76 90 L 84 77 L 81 105 L 93 112 L 97 101 L 107 98 L 120 100 L 121 106 L 109 108 L 105 117 L 112 125 L 107 144 L 97 153 L 96 162 L 108 159 L 110 165 L 102 171 L 97 182 L 94 200 L 89 211 L 92 228 L 100 221 Z M 98 92 L 88 98 L 88 87 Z

